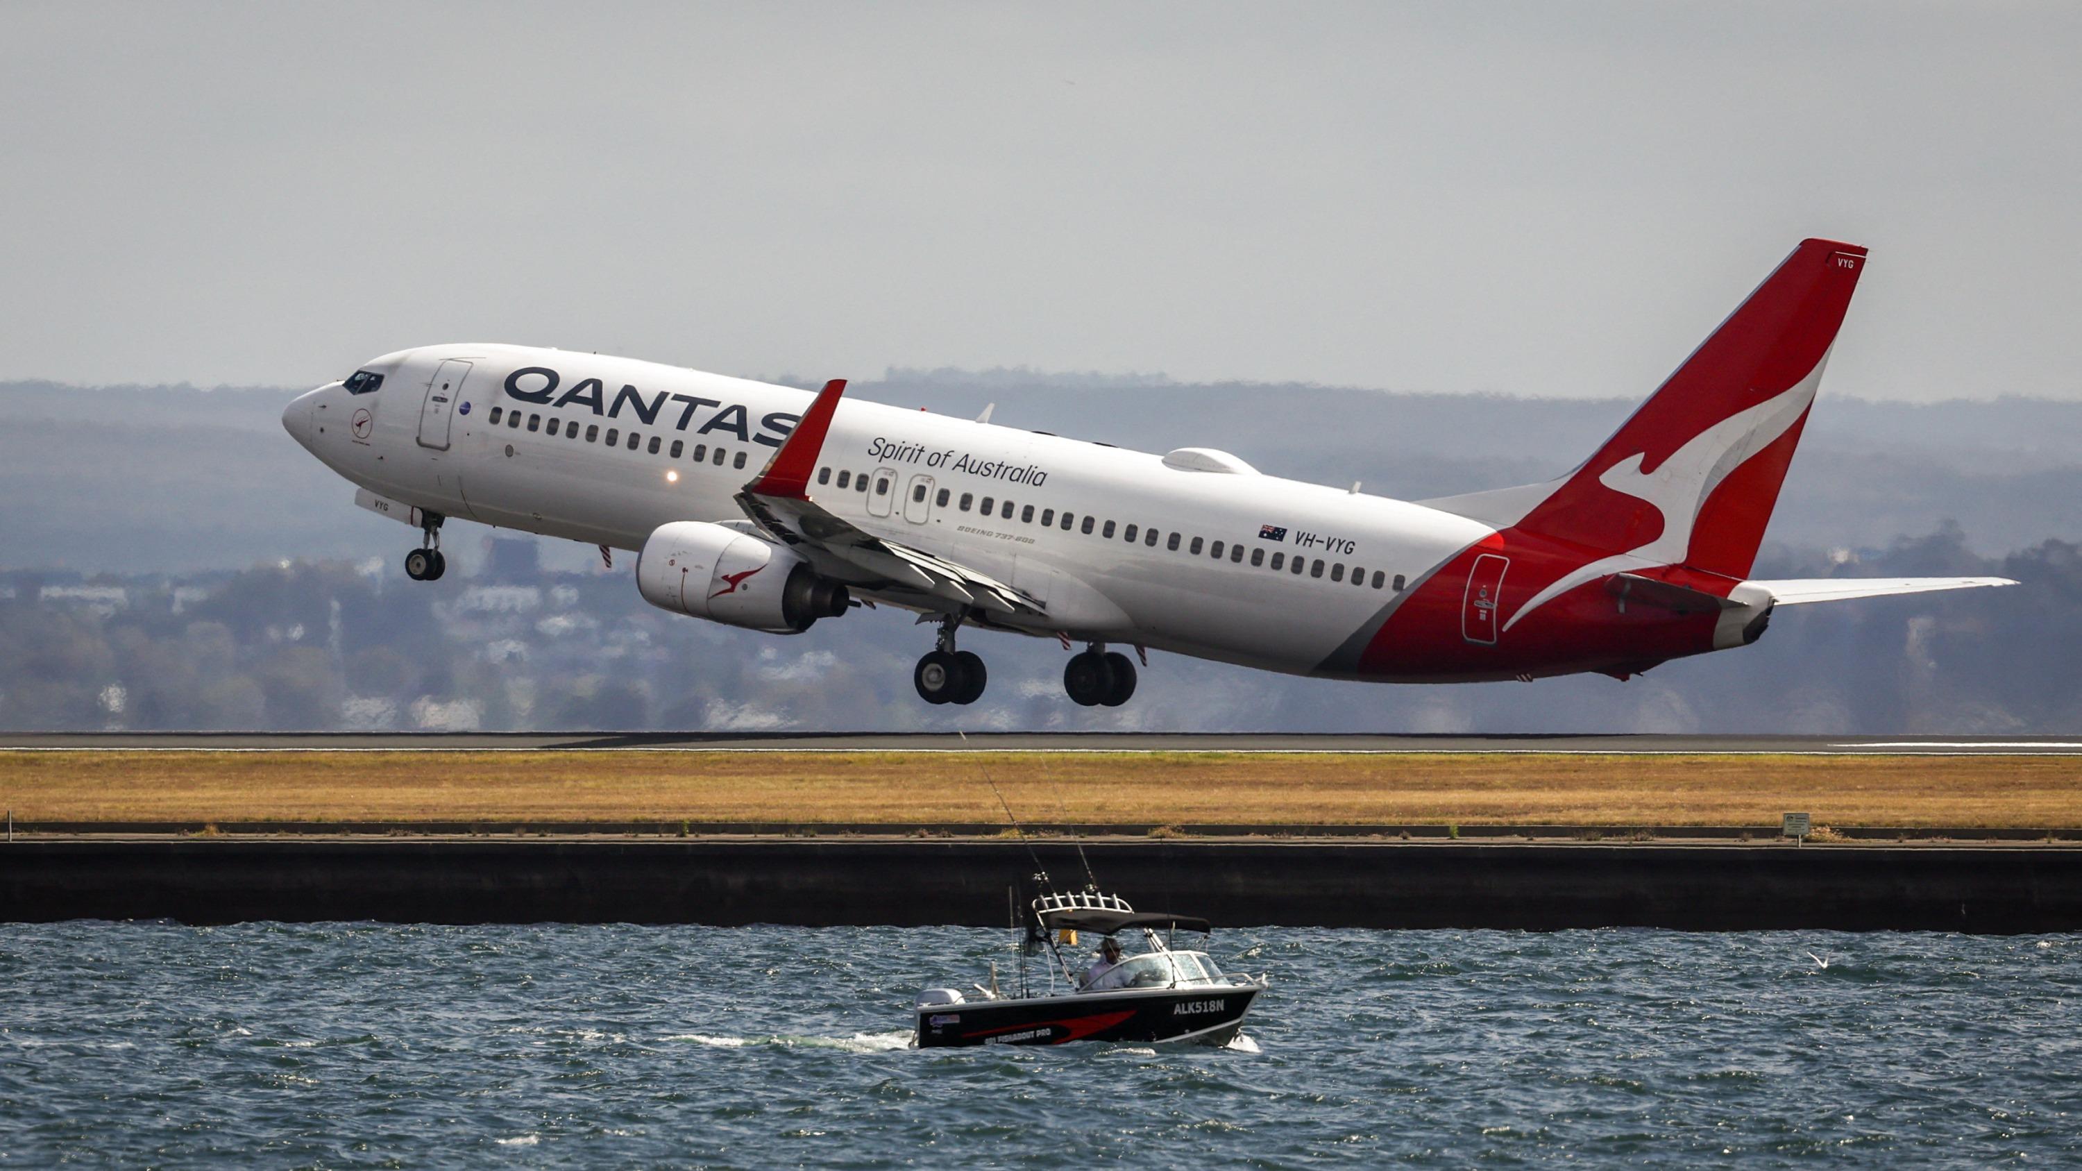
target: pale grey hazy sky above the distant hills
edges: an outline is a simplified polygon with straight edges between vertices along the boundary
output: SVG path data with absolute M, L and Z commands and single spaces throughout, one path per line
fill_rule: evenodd
M 8 0 L 0 377 L 1632 396 L 1832 235 L 1832 392 L 2082 398 L 2078 63 L 2078 4 Z

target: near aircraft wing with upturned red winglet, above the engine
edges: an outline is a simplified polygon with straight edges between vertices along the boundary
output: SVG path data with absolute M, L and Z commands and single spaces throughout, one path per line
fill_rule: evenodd
M 812 563 L 852 571 L 841 577 L 883 579 L 899 590 L 949 602 L 956 611 L 974 606 L 1006 617 L 1043 615 L 1045 606 L 1031 594 L 945 556 L 877 538 L 810 498 L 810 475 L 824 450 L 824 433 L 831 431 L 841 394 L 845 379 L 831 379 L 816 392 L 816 400 L 804 410 L 781 450 L 737 494 L 737 506 L 760 529 L 810 556 Z

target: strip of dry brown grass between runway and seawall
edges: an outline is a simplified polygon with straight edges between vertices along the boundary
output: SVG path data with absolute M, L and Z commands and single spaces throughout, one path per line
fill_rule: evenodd
M 19 821 L 2070 827 L 2082 756 L 0 752 Z

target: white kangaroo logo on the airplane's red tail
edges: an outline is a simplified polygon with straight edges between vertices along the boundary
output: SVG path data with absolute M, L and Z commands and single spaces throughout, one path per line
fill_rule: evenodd
M 1512 629 L 1518 625 L 1518 619 L 1530 615 L 1549 598 L 1566 594 L 1584 581 L 1597 581 L 1607 573 L 1626 569 L 1653 569 L 1684 560 L 1684 554 L 1691 552 L 1693 525 L 1699 523 L 1699 510 L 1705 508 L 1707 496 L 1720 488 L 1720 481 L 1728 479 L 1728 473 L 1776 444 L 1799 421 L 1816 400 L 1816 388 L 1822 385 L 1822 367 L 1826 365 L 1828 354 L 1824 352 L 1816 369 L 1791 390 L 1766 398 L 1747 410 L 1736 410 L 1699 431 L 1655 471 L 1641 471 L 1647 452 L 1634 452 L 1599 473 L 1597 481 L 1605 488 L 1653 504 L 1664 517 L 1664 531 L 1643 546 L 1564 573 L 1524 606 L 1518 606 L 1518 613 L 1503 623 L 1503 629 Z

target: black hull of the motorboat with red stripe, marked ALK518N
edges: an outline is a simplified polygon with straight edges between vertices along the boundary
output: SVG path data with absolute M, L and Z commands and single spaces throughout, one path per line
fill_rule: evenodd
M 918 1048 L 1066 1042 L 1228 1044 L 1243 1027 L 1260 986 L 1195 986 L 964 1000 L 918 1008 Z

